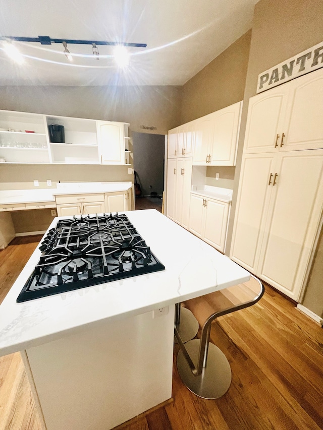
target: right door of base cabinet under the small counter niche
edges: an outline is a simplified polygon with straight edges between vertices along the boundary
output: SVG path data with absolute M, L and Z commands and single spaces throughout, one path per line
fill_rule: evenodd
M 204 240 L 222 252 L 226 241 L 228 214 L 228 203 L 207 199 Z

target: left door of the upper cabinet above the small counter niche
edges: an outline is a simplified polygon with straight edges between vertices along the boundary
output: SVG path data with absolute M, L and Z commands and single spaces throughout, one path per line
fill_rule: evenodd
M 195 122 L 195 146 L 193 164 L 206 165 L 209 159 L 209 144 L 213 133 L 213 118 L 211 115 L 203 116 Z

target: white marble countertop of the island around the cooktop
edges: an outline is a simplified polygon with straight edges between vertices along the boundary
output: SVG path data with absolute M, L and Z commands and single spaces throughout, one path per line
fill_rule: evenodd
M 0 355 L 249 279 L 246 270 L 156 210 L 126 214 L 166 270 L 17 303 L 38 263 L 36 249 L 0 305 Z

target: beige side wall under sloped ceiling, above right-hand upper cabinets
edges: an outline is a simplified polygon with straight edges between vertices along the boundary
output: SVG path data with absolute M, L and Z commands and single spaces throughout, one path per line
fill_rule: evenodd
M 250 38 L 251 30 L 183 85 L 181 124 L 243 99 Z

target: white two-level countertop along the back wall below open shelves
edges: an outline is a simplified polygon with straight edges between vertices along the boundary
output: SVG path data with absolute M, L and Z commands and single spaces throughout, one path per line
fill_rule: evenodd
M 0 205 L 19 203 L 55 202 L 56 195 L 92 194 L 127 191 L 131 181 L 124 182 L 64 182 L 58 183 L 57 188 L 32 190 L 0 190 Z

